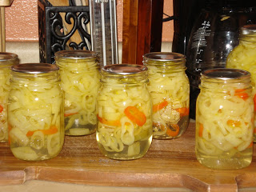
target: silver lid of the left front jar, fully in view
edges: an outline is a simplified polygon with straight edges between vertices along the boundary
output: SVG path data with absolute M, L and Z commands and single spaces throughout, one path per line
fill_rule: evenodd
M 58 70 L 58 66 L 49 63 L 24 63 L 11 66 L 10 69 L 24 74 L 46 74 Z

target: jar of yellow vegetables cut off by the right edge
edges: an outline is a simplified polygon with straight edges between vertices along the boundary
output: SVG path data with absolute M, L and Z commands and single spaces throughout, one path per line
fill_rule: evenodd
M 239 44 L 230 52 L 226 59 L 226 68 L 247 70 L 251 74 L 256 115 L 256 25 L 242 26 Z M 256 117 L 254 117 L 254 142 L 256 142 Z

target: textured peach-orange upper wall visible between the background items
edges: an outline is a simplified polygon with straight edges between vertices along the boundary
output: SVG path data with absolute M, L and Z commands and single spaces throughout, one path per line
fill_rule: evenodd
M 164 2 L 164 13 L 173 15 L 173 1 Z M 122 42 L 122 0 L 117 0 L 118 42 Z M 164 22 L 162 42 L 172 42 L 173 22 Z M 14 0 L 6 7 L 6 42 L 38 41 L 38 0 Z

